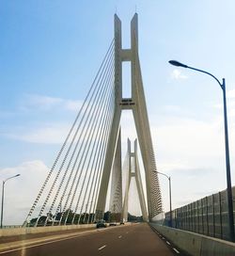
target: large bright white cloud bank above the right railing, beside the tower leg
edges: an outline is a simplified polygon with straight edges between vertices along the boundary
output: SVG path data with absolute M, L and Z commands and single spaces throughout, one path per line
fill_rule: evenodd
M 163 118 L 163 117 L 162 117 Z M 158 121 L 161 117 L 159 117 Z M 152 119 L 151 119 L 152 120 Z M 234 163 L 235 132 L 229 129 L 230 161 Z M 173 207 L 180 207 L 226 188 L 224 122 L 165 117 L 151 126 L 159 171 L 172 178 Z M 231 168 L 231 177 L 235 171 Z M 168 211 L 168 184 L 160 176 L 164 210 Z M 199 192 L 201 194 L 199 194 Z M 184 203 L 183 203 L 184 201 Z

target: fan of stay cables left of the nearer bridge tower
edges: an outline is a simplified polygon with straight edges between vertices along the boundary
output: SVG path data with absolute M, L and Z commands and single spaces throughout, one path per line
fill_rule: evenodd
M 95 220 L 107 140 L 115 112 L 114 40 L 24 226 Z

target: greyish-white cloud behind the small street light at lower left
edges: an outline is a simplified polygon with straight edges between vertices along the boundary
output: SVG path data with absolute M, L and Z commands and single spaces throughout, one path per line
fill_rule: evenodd
M 21 176 L 8 180 L 5 185 L 4 225 L 23 224 L 48 168 L 40 160 L 24 162 L 17 167 L 0 169 L 0 179 L 6 180 L 18 173 Z

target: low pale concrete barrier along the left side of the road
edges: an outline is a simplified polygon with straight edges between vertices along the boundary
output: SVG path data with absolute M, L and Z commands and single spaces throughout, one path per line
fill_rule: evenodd
M 88 228 L 95 228 L 95 224 L 2 229 L 0 230 L 0 236 L 22 235 L 27 233 L 41 233 L 41 232 L 60 232 L 60 231 L 80 230 L 80 229 L 88 229 Z

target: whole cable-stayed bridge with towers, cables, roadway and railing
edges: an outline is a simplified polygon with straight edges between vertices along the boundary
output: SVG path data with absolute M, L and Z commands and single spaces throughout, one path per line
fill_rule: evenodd
M 131 47 L 123 49 L 121 21 L 118 15 L 115 15 L 114 40 L 111 41 L 103 57 L 101 67 L 88 90 L 86 99 L 71 125 L 68 136 L 66 136 L 52 168 L 50 168 L 39 189 L 39 194 L 25 217 L 24 228 L 18 232 L 18 234 L 24 234 L 25 238 L 29 233 L 28 229 L 31 229 L 30 232 L 39 232 L 46 228 L 46 232 L 49 229 L 57 231 L 55 233 L 57 236 L 55 235 L 53 239 L 43 238 L 43 241 L 32 242 L 31 240 L 31 244 L 27 242 L 24 246 L 22 242 L 21 245 L 14 244 L 14 246 L 10 246 L 11 249 L 6 250 L 4 248 L 3 252 L 1 252 L 0 246 L 0 254 L 16 253 L 12 255 L 18 255 L 18 252 L 21 253 L 23 249 L 24 251 L 28 249 L 27 255 L 36 255 L 38 253 L 36 248 L 44 245 L 44 243 L 56 243 L 57 245 L 59 242 L 56 255 L 65 255 L 65 253 L 68 254 L 69 248 L 67 244 L 64 244 L 64 241 L 82 236 L 79 241 L 76 240 L 76 247 L 80 252 L 85 251 L 86 248 L 83 255 L 96 255 L 107 245 L 97 244 L 97 241 L 101 240 L 99 238 L 101 236 L 98 237 L 98 234 L 93 234 L 94 231 L 90 231 L 91 236 L 85 239 L 81 232 L 79 234 L 72 232 L 71 236 L 68 236 L 65 232 L 63 233 L 65 229 L 55 228 L 69 226 L 73 227 L 71 229 L 75 231 L 81 227 L 90 229 L 90 227 L 94 227 L 94 223 L 103 219 L 107 208 L 115 221 L 127 222 L 130 184 L 132 180 L 135 180 L 143 220 L 150 223 L 152 230 L 157 233 L 158 240 L 156 240 L 155 234 L 153 236 L 147 224 L 125 225 L 122 229 L 119 227 L 116 230 L 118 241 L 115 240 L 117 237 L 111 239 L 113 233 L 116 232 L 103 232 L 103 236 L 106 235 L 106 241 L 109 241 L 106 243 L 114 244 L 113 249 L 108 250 L 106 248 L 106 255 L 121 253 L 120 248 L 122 247 L 117 246 L 121 238 L 125 238 L 126 242 L 122 244 L 125 245 L 124 247 L 132 248 L 130 248 L 129 254 L 125 254 L 126 251 L 123 251 L 125 255 L 153 255 L 151 253 L 157 251 L 163 253 L 161 255 L 184 255 L 185 251 L 192 253 L 192 255 L 234 255 L 223 254 L 227 251 L 228 253 L 235 253 L 234 243 L 216 242 L 212 240 L 214 238 L 202 237 L 202 234 L 206 234 L 208 237 L 219 237 L 221 241 L 222 239 L 229 240 L 227 221 L 223 222 L 222 219 L 226 206 L 224 204 L 222 207 L 221 196 L 219 196 L 219 202 L 212 196 L 210 200 L 203 200 L 206 201 L 206 204 L 194 202 L 189 207 L 167 213 L 165 219 L 160 219 L 164 210 L 138 56 L 137 19 L 135 13 L 131 22 Z M 125 61 L 131 63 L 132 93 L 130 98 L 123 98 L 122 96 L 124 84 L 122 81 L 122 63 Z M 133 146 L 131 140 L 128 139 L 126 156 L 122 159 L 120 119 L 123 111 L 126 110 L 131 110 L 133 113 L 137 138 L 133 141 Z M 139 157 L 142 158 L 143 170 L 141 170 Z M 142 179 L 141 172 L 144 173 L 145 179 Z M 126 177 L 124 186 L 123 175 Z M 110 195 L 108 195 L 109 184 L 111 184 Z M 216 203 L 220 204 L 218 211 L 214 206 L 217 205 Z M 202 209 L 201 213 L 199 209 Z M 227 212 L 224 212 L 224 216 L 227 215 Z M 156 220 L 165 224 L 169 220 L 169 216 L 172 218 L 172 214 L 173 222 L 170 219 L 170 225 L 168 225 L 170 227 L 159 226 L 159 222 Z M 219 224 L 216 222 L 216 218 L 220 218 Z M 180 228 L 180 230 L 173 229 L 172 226 Z M 129 232 L 131 235 L 128 235 Z M 17 238 L 15 237 L 16 235 L 13 235 L 8 241 L 16 243 Z M 4 238 L 0 237 L 1 239 L 3 243 L 6 242 Z M 48 242 L 49 240 L 50 242 Z M 136 245 L 136 241 L 142 241 L 142 243 Z M 163 241 L 166 241 L 166 244 Z M 96 249 L 92 248 L 91 245 L 95 246 Z M 215 250 L 219 254 L 207 254 L 211 245 L 216 248 Z M 41 248 L 43 253 L 39 255 L 47 255 L 52 249 L 54 248 Z M 197 250 L 200 252 L 204 250 L 205 254 L 196 254 L 195 251 Z M 212 253 L 215 250 L 212 250 Z M 70 255 L 73 255 L 74 251 L 76 250 L 70 247 Z

